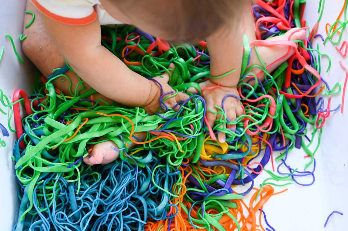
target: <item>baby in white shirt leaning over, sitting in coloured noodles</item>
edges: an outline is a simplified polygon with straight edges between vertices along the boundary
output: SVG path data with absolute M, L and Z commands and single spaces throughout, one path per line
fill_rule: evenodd
M 102 98 L 128 107 L 141 107 L 145 112 L 153 114 L 159 109 L 159 85 L 132 72 L 101 45 L 100 25 L 132 24 L 169 42 L 195 43 L 205 39 L 211 57 L 210 76 L 219 76 L 236 69 L 224 77 L 200 83 L 201 89 L 217 84 L 221 86 L 204 92 L 207 109 L 216 112 L 214 105 L 221 107 L 224 96 L 238 96 L 236 86 L 243 57 L 243 35 L 246 34 L 250 42 L 256 40 L 250 4 L 251 1 L 247 0 L 28 0 L 26 10 L 34 12 L 36 17 L 30 27 L 24 28 L 23 34 L 27 38 L 22 48 L 44 76 L 50 75 L 54 68 L 64 66 L 65 59 L 87 83 L 84 84 L 87 89 L 94 88 L 99 92 L 93 96 L 95 100 Z M 24 25 L 30 22 L 31 17 L 25 16 Z M 305 38 L 306 31 L 300 30 L 270 40 Z M 259 47 L 258 51 L 267 66 L 285 56 L 288 47 Z M 274 71 L 293 53 L 292 48 L 286 57 L 267 71 Z M 254 48 L 252 54 L 255 54 Z M 249 66 L 252 65 L 261 65 L 256 55 L 251 56 Z M 175 67 L 171 65 L 169 68 Z M 253 68 L 251 72 L 258 74 L 260 69 Z M 79 83 L 77 75 L 70 71 L 65 74 L 72 80 L 72 89 L 75 89 Z M 259 79 L 263 80 L 263 77 L 260 75 Z M 163 86 L 164 93 L 173 91 L 168 85 L 168 74 L 155 79 Z M 69 83 L 60 80 L 58 78 L 54 81 L 55 87 L 69 94 Z M 196 90 L 188 91 L 195 93 Z M 185 93 L 179 92 L 177 96 L 166 100 L 165 104 L 173 107 L 187 98 Z M 231 121 L 243 114 L 239 100 L 233 97 L 224 101 L 224 108 Z M 206 117 L 209 125 L 213 126 L 220 114 L 207 110 Z M 220 142 L 225 142 L 224 133 L 218 133 L 217 137 Z M 117 148 L 112 141 L 96 144 L 90 157 L 83 159 L 84 162 L 92 166 L 114 161 L 119 152 L 110 146 Z

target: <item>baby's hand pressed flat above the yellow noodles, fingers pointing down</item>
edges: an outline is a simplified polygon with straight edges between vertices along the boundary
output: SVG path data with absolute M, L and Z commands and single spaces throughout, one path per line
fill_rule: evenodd
M 206 102 L 206 117 L 208 124 L 211 127 L 213 127 L 215 124 L 215 120 L 220 119 L 221 114 L 211 113 L 209 109 L 212 112 L 220 112 L 220 110 L 214 107 L 214 105 L 222 108 L 223 98 L 227 95 L 234 95 L 236 97 L 239 97 L 238 90 L 236 87 L 218 86 L 210 80 L 200 83 L 199 86 L 202 90 L 205 88 L 212 88 L 207 89 L 203 92 L 203 98 Z M 194 88 L 189 88 L 188 92 L 197 93 L 197 90 Z M 243 108 L 240 105 L 240 101 L 235 97 L 226 97 L 223 106 L 225 109 L 227 119 L 229 119 L 230 121 L 235 121 L 238 116 L 243 115 Z M 234 125 L 231 128 L 236 129 L 236 126 Z M 223 132 L 217 133 L 217 137 L 219 139 L 219 142 L 221 143 L 224 143 L 226 141 L 226 134 Z

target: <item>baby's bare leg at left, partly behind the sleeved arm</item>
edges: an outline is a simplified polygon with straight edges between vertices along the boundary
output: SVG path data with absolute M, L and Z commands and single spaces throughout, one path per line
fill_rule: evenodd
M 28 0 L 26 5 L 26 10 L 32 11 L 35 14 L 35 20 L 31 26 L 24 28 L 23 36 L 26 35 L 27 38 L 22 42 L 22 49 L 25 55 L 33 62 L 33 64 L 39 69 L 39 71 L 45 76 L 52 74 L 54 68 L 60 68 L 65 65 L 64 59 L 53 41 L 50 39 L 49 34 L 46 31 L 44 23 L 42 22 L 42 17 L 40 11 L 33 5 L 33 3 Z M 26 14 L 24 17 L 24 25 L 28 24 L 32 16 Z M 77 75 L 71 71 L 65 73 L 72 82 L 72 93 L 75 92 L 75 87 L 79 83 Z M 69 81 L 61 81 L 65 79 L 64 77 L 58 77 L 53 81 L 54 86 L 60 89 L 66 96 L 70 96 L 69 93 Z M 83 76 L 82 76 L 83 79 Z M 87 89 L 91 87 L 84 83 Z M 80 89 L 79 86 L 78 89 Z M 101 98 L 108 103 L 112 100 L 108 99 L 101 94 L 95 94 L 93 100 Z

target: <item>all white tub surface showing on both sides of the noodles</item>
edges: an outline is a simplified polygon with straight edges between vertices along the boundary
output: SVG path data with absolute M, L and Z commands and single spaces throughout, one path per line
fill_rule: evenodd
M 304 18 L 308 20 L 311 27 L 316 23 L 318 18 L 317 9 L 319 0 L 307 0 L 307 7 Z M 325 24 L 327 22 L 335 22 L 339 14 L 344 0 L 326 1 L 324 15 L 319 24 L 319 31 L 325 35 Z M 19 52 L 23 58 L 24 55 L 20 49 L 19 34 L 22 33 L 23 17 L 25 10 L 24 0 L 0 0 L 0 48 L 5 46 L 3 59 L 0 63 L 0 88 L 7 96 L 12 96 L 15 89 L 24 89 L 30 91 L 33 68 L 27 59 L 25 64 L 19 63 L 14 55 L 9 39 L 5 39 L 3 34 L 10 34 L 14 40 Z M 346 30 L 342 41 L 348 40 L 348 31 Z M 345 79 L 345 72 L 339 66 L 338 61 L 348 67 L 348 58 L 342 58 L 334 49 L 330 42 L 326 46 L 322 45 L 320 38 L 316 38 L 313 42 L 314 47 L 319 43 L 321 51 L 327 53 L 332 58 L 332 67 L 329 73 L 322 72 L 322 76 L 332 87 L 337 81 L 342 83 Z M 327 66 L 327 59 L 322 58 L 323 68 Z M 348 96 L 347 96 L 348 97 Z M 326 105 L 327 98 L 325 98 Z M 341 95 L 331 97 L 331 108 L 335 108 L 341 102 Z M 325 106 L 326 107 L 326 106 Z M 268 222 L 277 231 L 309 231 L 309 230 L 328 230 L 343 231 L 348 226 L 348 200 L 347 200 L 347 176 L 348 170 L 348 140 L 345 131 L 348 129 L 348 103 L 345 113 L 341 115 L 339 112 L 334 113 L 324 125 L 322 136 L 322 145 L 316 154 L 316 181 L 310 187 L 302 187 L 299 185 L 289 185 L 287 192 L 271 197 L 264 206 Z M 7 116 L 0 115 L 0 123 L 7 127 Z M 11 124 L 14 128 L 14 123 Z M 16 196 L 15 174 L 13 162 L 10 158 L 12 155 L 12 147 L 15 140 L 15 134 L 11 133 L 10 137 L 2 137 L 5 140 L 6 147 L 0 147 L 0 230 L 12 230 L 13 224 L 17 219 L 18 200 Z M 315 144 L 314 144 L 315 145 Z M 313 151 L 315 146 L 310 149 Z M 288 163 L 292 167 L 302 167 L 308 159 L 303 159 L 303 151 L 294 149 L 290 152 Z M 277 155 L 275 155 L 277 156 Z M 279 164 L 279 163 L 275 163 Z M 270 163 L 266 166 L 270 169 Z M 301 169 L 300 169 L 301 170 Z M 283 169 L 284 171 L 284 169 Z M 256 178 L 256 187 L 268 175 L 264 172 L 259 178 Z M 311 178 L 301 179 L 300 182 L 308 183 Z M 284 188 L 275 188 L 275 191 Z M 248 199 L 245 200 L 246 202 Z M 248 203 L 247 203 L 248 204 Z M 324 222 L 326 217 L 334 210 L 343 213 L 343 216 L 334 214 L 326 228 Z

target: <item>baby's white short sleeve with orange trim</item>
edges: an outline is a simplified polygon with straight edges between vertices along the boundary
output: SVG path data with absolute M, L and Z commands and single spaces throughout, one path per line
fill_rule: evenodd
M 86 25 L 97 18 L 93 4 L 86 0 L 31 0 L 48 17 L 68 25 Z

